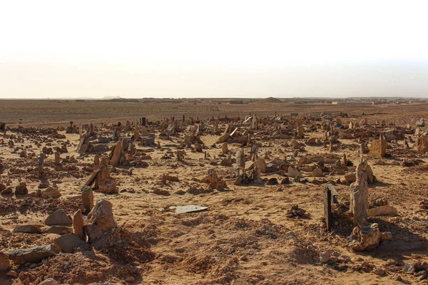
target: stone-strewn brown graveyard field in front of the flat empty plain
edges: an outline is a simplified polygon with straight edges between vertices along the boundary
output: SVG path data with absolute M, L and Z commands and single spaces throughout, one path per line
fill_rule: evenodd
M 427 284 L 400 115 L 0 123 L 0 284 Z

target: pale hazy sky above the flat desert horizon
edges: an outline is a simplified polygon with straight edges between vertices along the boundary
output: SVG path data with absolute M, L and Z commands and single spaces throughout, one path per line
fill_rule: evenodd
M 1 1 L 0 98 L 428 97 L 428 1 Z

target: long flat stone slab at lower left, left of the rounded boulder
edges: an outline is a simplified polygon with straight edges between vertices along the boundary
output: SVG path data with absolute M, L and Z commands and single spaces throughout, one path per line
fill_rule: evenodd
M 27 262 L 39 263 L 43 259 L 53 257 L 58 251 L 51 245 L 43 247 L 31 247 L 29 249 L 11 249 L 6 252 L 9 259 L 17 264 L 26 264 Z

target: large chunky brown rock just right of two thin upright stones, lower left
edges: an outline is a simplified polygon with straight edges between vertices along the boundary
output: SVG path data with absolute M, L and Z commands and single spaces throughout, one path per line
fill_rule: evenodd
M 102 237 L 104 232 L 117 226 L 113 217 L 112 207 L 113 204 L 111 202 L 101 199 L 88 214 L 88 222 L 85 226 L 88 242 Z

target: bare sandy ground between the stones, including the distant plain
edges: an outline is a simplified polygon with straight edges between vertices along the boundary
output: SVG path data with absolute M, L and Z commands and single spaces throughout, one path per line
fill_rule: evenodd
M 210 118 L 217 115 L 228 117 L 256 112 L 260 117 L 277 113 L 340 113 L 346 112 L 359 120 L 362 113 L 375 120 L 385 120 L 405 127 L 407 123 L 423 117 L 428 104 L 414 105 L 374 105 L 374 106 L 332 106 L 332 105 L 292 105 L 264 104 L 215 105 L 217 112 L 208 112 L 213 104 L 200 105 L 139 103 L 76 103 L 43 101 L 0 101 L 0 120 L 11 128 L 19 125 L 56 127 L 66 126 L 68 121 L 88 123 L 113 123 L 118 120 L 134 119 L 146 116 L 149 120 L 158 120 L 172 115 Z M 178 109 L 174 109 L 178 108 Z M 205 111 L 204 111 L 205 110 Z M 21 119 L 21 120 L 20 120 Z M 345 121 L 351 120 L 350 118 Z M 124 123 L 124 122 L 123 122 Z M 224 128 L 225 125 L 222 125 Z M 159 132 L 156 131 L 156 136 Z M 101 130 L 100 130 L 101 132 Z M 106 130 L 103 130 L 106 133 Z M 34 201 L 27 204 L 19 202 L 25 197 L 2 195 L 2 202 L 11 207 L 2 209 L 1 226 L 11 230 L 20 224 L 44 224 L 44 219 L 55 209 L 66 209 L 68 214 L 78 209 L 78 197 L 93 169 L 94 154 L 81 155 L 76 152 L 78 134 L 66 134 L 65 139 L 53 139 L 49 135 L 23 134 L 8 131 L 12 138 L 0 135 L 0 160 L 5 171 L 0 175 L 0 183 L 15 187 L 26 181 L 29 193 L 36 192 L 39 179 L 30 170 L 24 174 L 10 174 L 9 169 L 36 167 L 38 155 L 46 145 L 61 146 L 69 140 L 68 153 L 61 159 L 74 156 L 77 162 L 63 160 L 61 167 L 55 170 L 54 155 L 47 155 L 45 168 L 49 181 L 56 182 L 61 192 L 58 201 Z M 42 279 L 55 278 L 61 284 L 98 284 L 106 281 L 128 284 L 419 284 L 416 276 L 404 274 L 399 266 L 415 261 L 427 261 L 427 212 L 419 212 L 419 202 L 427 197 L 428 174 L 427 157 L 416 152 L 404 152 L 402 141 L 392 144 L 387 152 L 392 157 L 369 159 L 378 182 L 370 185 L 370 199 L 383 198 L 396 207 L 399 219 L 393 217 L 370 218 L 377 222 L 381 232 L 392 232 L 393 238 L 382 242 L 377 249 L 367 252 L 352 252 L 347 247 L 347 236 L 352 226 L 340 221 L 333 232 L 325 232 L 321 224 L 323 217 L 323 185 L 312 183 L 310 172 L 302 172 L 309 182 L 290 182 L 287 185 L 233 185 L 233 166 L 218 165 L 225 157 L 221 145 L 212 145 L 219 135 L 206 132 L 201 136 L 208 157 L 204 153 L 185 150 L 185 162 L 177 162 L 175 157 L 163 159 L 165 154 L 175 152 L 184 134 L 189 129 L 170 139 L 160 139 L 161 148 L 137 146 L 138 150 L 151 155 L 148 167 L 135 168 L 133 175 L 127 175 L 128 167 L 116 167 L 112 177 L 118 182 L 119 193 L 106 195 L 95 192 L 96 199 L 108 199 L 113 203 L 113 213 L 118 225 L 125 231 L 122 236 L 138 244 L 137 249 L 127 249 L 120 244 L 106 252 L 76 252 L 54 257 L 46 265 L 39 264 L 35 269 L 30 265 L 12 269 L 19 273 L 18 278 L 6 277 L 6 271 L 0 272 L 0 284 L 38 284 L 31 275 L 44 270 Z M 127 135 L 131 136 L 131 132 Z M 123 134 L 125 135 L 125 134 Z M 306 132 L 306 138 L 320 138 L 320 131 Z M 24 140 L 19 140 L 23 138 Z M 260 157 L 267 162 L 292 155 L 287 139 L 262 139 Z M 414 138 L 415 139 L 415 138 Z M 14 140 L 14 147 L 8 145 Z M 156 140 L 156 142 L 158 139 Z M 298 140 L 304 142 L 305 140 Z M 39 142 L 39 145 L 36 143 Z M 324 146 L 305 146 L 307 152 L 302 155 L 321 154 L 336 157 L 343 153 L 354 165 L 359 159 L 359 147 L 355 140 L 340 140 L 341 147 L 333 152 Z M 113 145 L 113 143 L 111 143 Z M 240 144 L 229 145 L 235 156 Z M 36 154 L 34 157 L 19 157 L 26 148 Z M 248 152 L 249 148 L 246 147 Z M 404 158 L 420 159 L 423 162 L 413 167 L 403 167 Z M 186 190 L 191 185 L 207 188 L 201 180 L 208 170 L 215 169 L 225 179 L 228 189 L 212 190 L 193 195 Z M 163 174 L 178 177 L 179 182 L 161 182 Z M 262 178 L 276 177 L 280 174 L 263 174 Z M 327 177 L 335 181 L 343 175 Z M 341 203 L 350 199 L 350 186 L 335 185 Z M 122 192 L 126 190 L 126 192 Z M 135 190 L 130 191 L 130 190 Z M 164 190 L 164 195 L 156 194 Z M 181 190 L 182 192 L 180 192 Z M 19 206 L 21 203 L 21 206 Z M 170 206 L 196 204 L 208 207 L 204 212 L 174 214 L 165 211 Z M 286 218 L 285 213 L 298 204 L 305 209 L 307 217 Z M 55 234 L 6 234 L 1 232 L 1 246 L 4 249 L 46 245 L 56 238 Z M 115 240 L 114 242 L 118 242 Z M 322 264 L 319 252 L 332 249 L 342 257 L 350 257 L 350 262 L 342 264 Z M 397 273 L 402 281 L 393 280 L 394 261 Z M 401 264 L 401 265 L 400 265 Z M 382 267 L 386 274 L 378 276 L 371 271 Z M 102 274 L 98 274 L 98 273 Z M 135 281 L 126 282 L 128 276 Z

